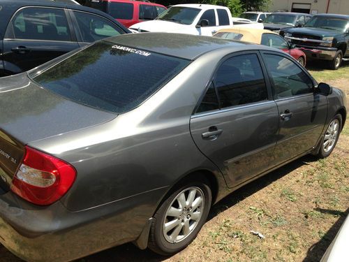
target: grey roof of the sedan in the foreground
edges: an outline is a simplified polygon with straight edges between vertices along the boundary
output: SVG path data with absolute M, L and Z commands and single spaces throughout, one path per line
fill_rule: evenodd
M 197 59 L 207 52 L 224 48 L 227 49 L 227 54 L 242 50 L 274 50 L 263 45 L 231 41 L 212 36 L 172 33 L 123 34 L 121 36 L 107 38 L 105 41 L 114 45 L 137 48 L 190 60 Z

